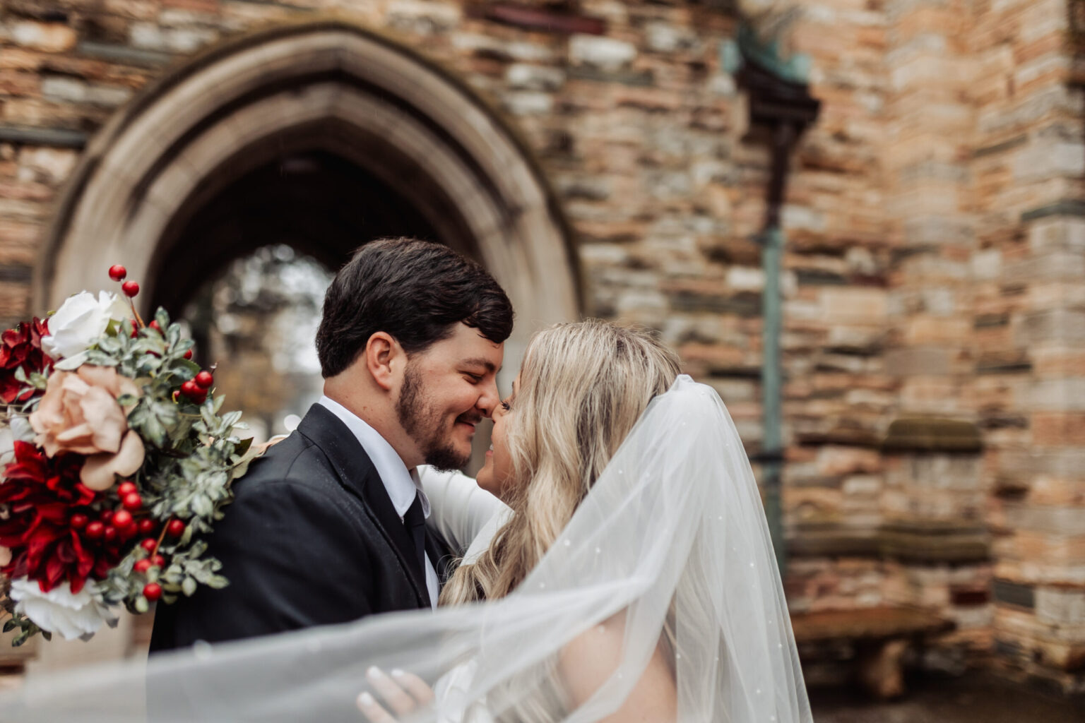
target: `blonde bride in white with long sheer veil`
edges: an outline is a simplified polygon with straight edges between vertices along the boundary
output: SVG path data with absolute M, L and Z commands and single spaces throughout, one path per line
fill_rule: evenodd
M 145 689 L 154 721 L 812 721 L 757 487 L 711 387 L 647 334 L 565 324 L 533 338 L 494 422 L 478 485 L 496 496 L 423 473 L 463 551 L 436 612 L 31 679 L 0 696 L 3 719 L 146 720 Z

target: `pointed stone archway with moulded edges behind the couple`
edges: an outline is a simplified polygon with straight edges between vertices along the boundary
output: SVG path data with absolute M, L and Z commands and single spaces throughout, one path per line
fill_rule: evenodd
M 113 262 L 143 283 L 145 306 L 183 293 L 208 264 L 268 243 L 239 234 L 195 249 L 186 229 L 201 210 L 276 158 L 312 154 L 383 184 L 421 217 L 417 227 L 494 273 L 521 320 L 509 361 L 540 324 L 578 315 L 569 225 L 515 133 L 447 72 L 339 21 L 221 43 L 114 117 L 41 249 L 35 306 L 102 287 Z M 305 250 L 330 263 L 349 251 L 312 245 Z

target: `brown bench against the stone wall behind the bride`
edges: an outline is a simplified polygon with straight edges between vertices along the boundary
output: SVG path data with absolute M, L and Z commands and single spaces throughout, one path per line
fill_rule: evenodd
M 876 607 L 855 610 L 800 612 L 791 618 L 800 656 L 818 644 L 848 643 L 859 683 L 878 698 L 904 693 L 904 654 L 923 638 L 956 624 L 919 608 Z M 806 650 L 804 651 L 804 648 Z

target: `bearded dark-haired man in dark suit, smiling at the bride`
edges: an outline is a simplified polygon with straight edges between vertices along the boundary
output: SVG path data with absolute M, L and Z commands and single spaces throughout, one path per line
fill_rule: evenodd
M 414 467 L 467 463 L 512 306 L 477 263 L 407 238 L 362 246 L 324 297 L 324 396 L 234 482 L 208 555 L 230 581 L 158 606 L 151 651 L 436 605 L 445 552 Z

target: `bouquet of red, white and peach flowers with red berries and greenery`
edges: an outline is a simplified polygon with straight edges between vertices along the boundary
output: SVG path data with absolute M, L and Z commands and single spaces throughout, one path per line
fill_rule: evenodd
M 127 300 L 82 292 L 0 337 L 0 618 L 16 646 L 227 584 L 201 537 L 256 451 L 181 327 L 164 309 L 143 323 L 126 275 L 110 269 Z

